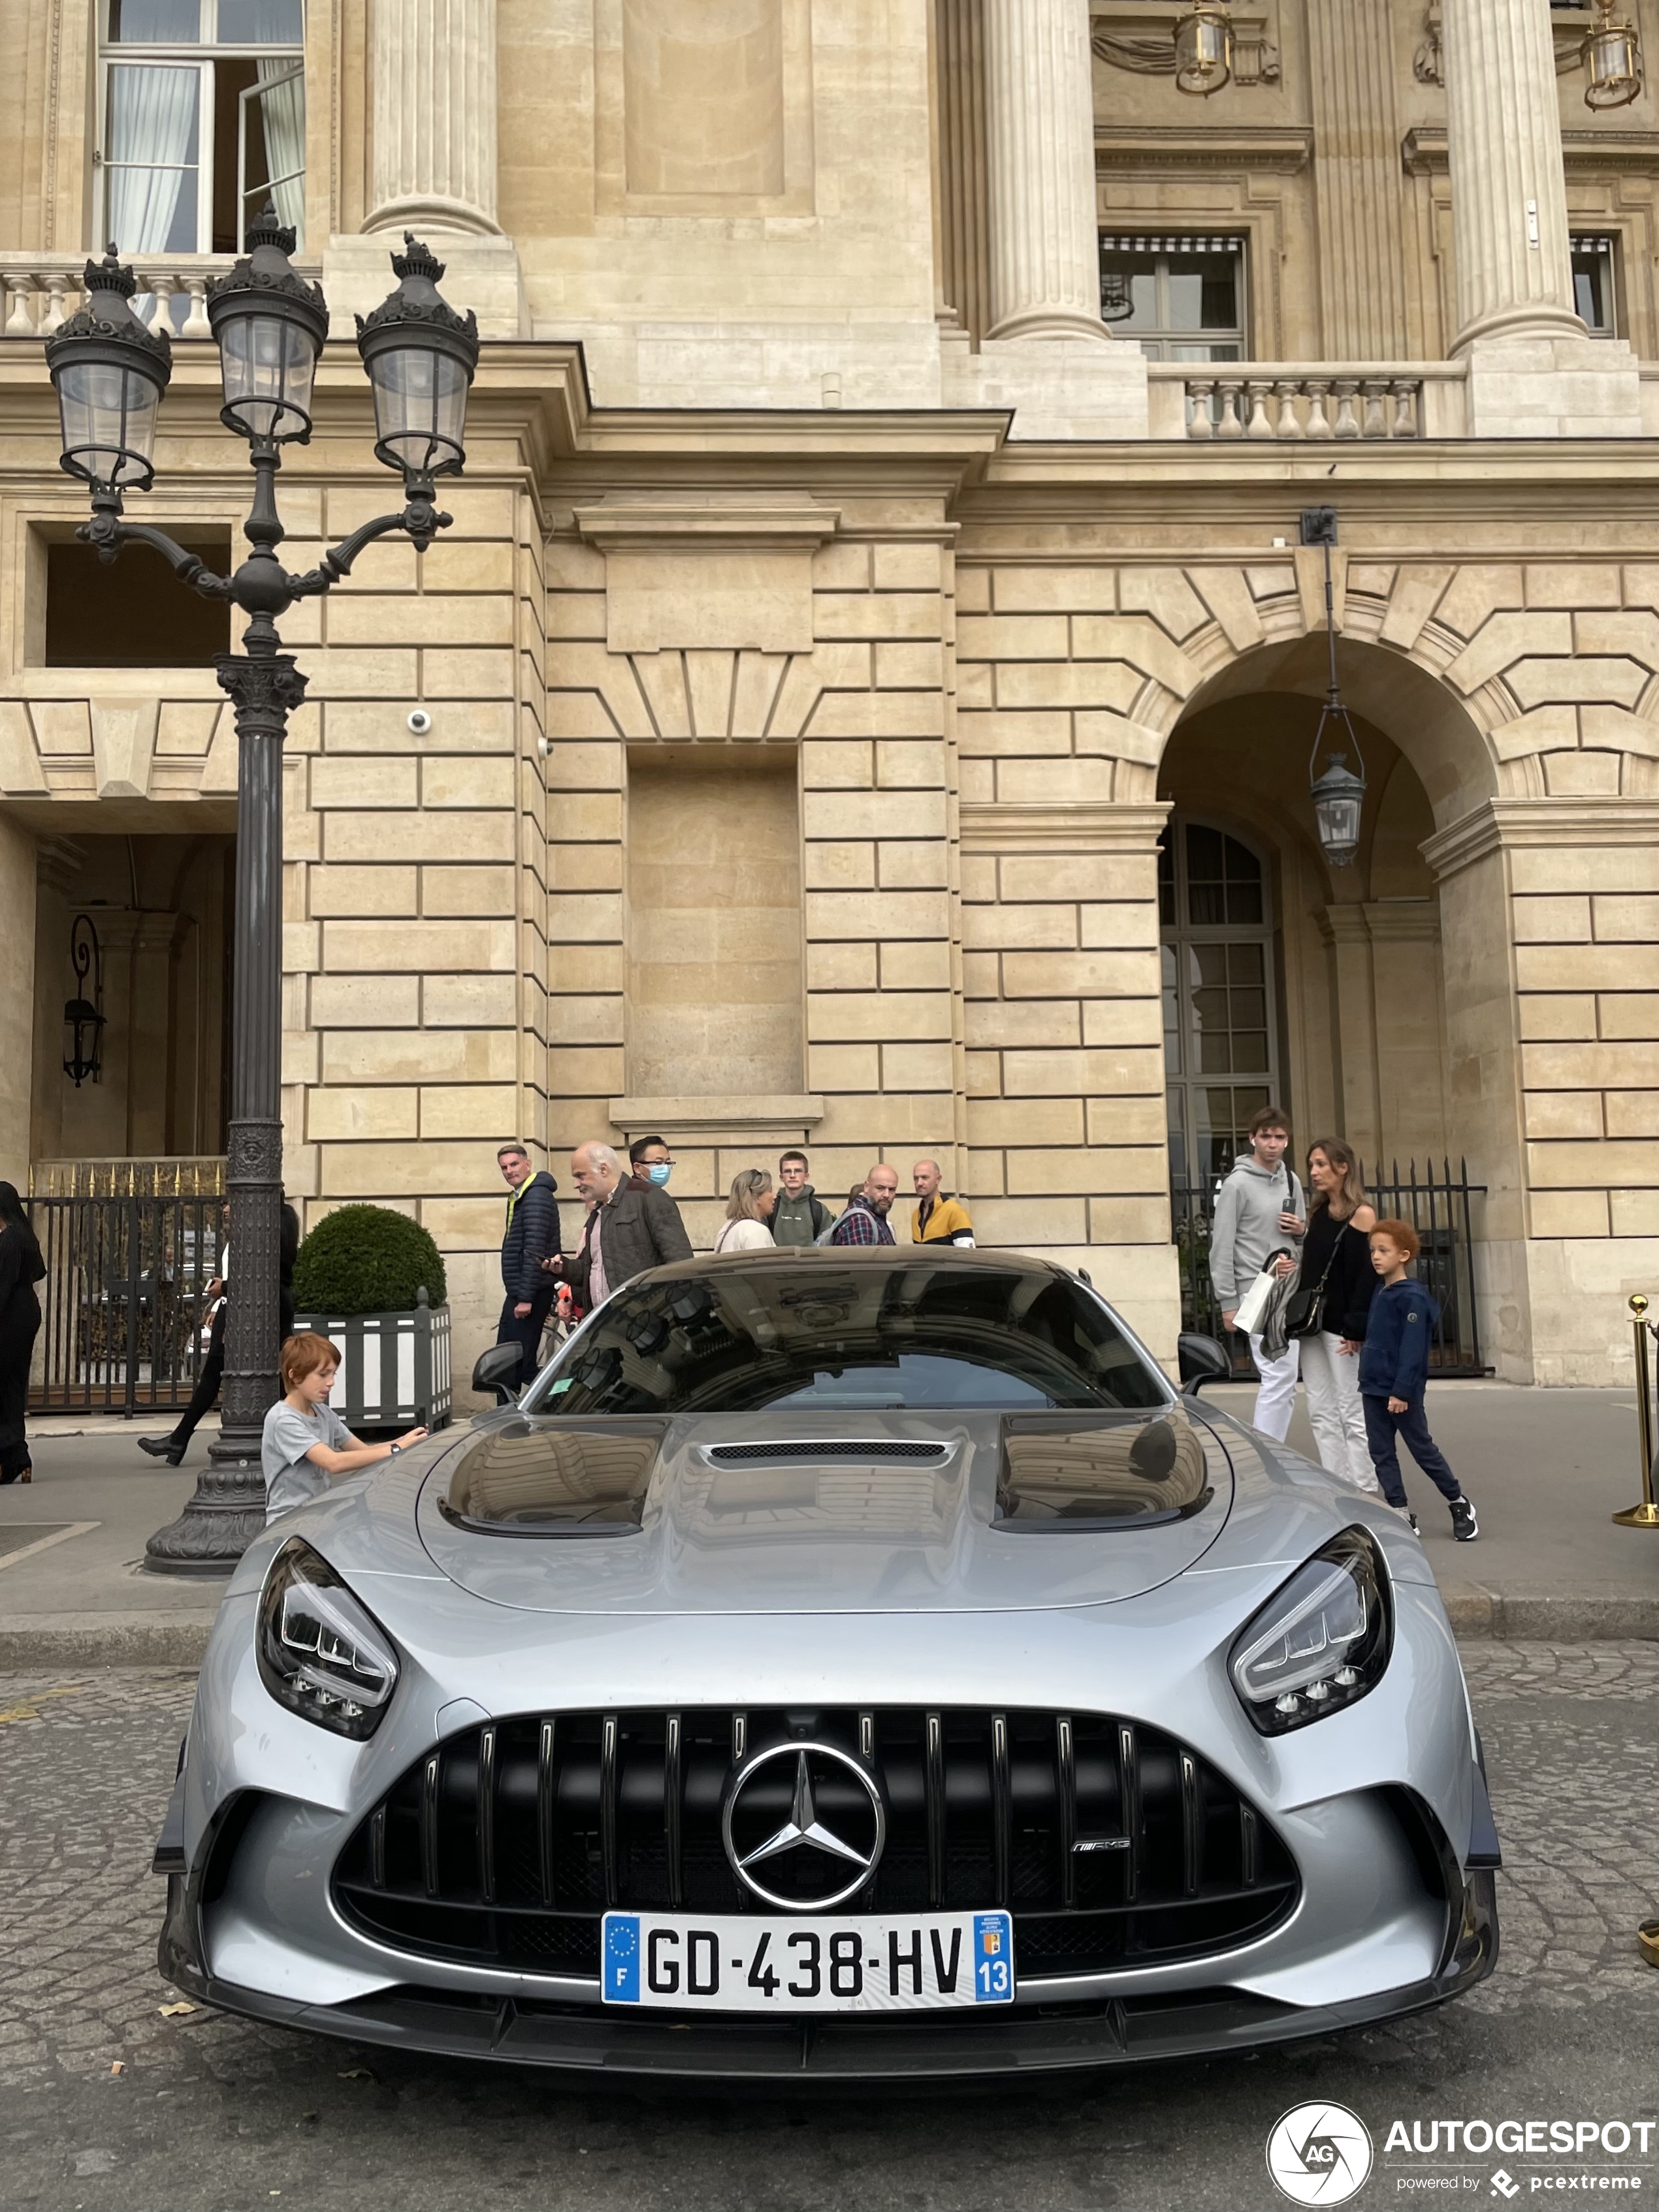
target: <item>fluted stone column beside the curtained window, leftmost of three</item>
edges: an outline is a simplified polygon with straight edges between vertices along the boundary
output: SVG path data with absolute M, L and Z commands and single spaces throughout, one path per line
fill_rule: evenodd
M 365 230 L 498 237 L 495 0 L 374 0 Z

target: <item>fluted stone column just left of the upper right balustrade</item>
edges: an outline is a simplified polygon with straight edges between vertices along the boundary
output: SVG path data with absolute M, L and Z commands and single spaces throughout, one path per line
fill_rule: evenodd
M 1108 338 L 1099 319 L 1088 0 L 984 0 L 991 338 Z

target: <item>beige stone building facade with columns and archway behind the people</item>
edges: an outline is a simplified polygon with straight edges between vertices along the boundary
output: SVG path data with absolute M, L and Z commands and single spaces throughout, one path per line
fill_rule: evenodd
M 1621 1378 L 1655 93 L 1588 113 L 1593 15 L 1546 0 L 1234 0 L 1192 100 L 1181 13 L 0 0 L 0 1172 L 221 1144 L 230 712 L 166 575 L 75 566 L 40 338 L 113 230 L 177 334 L 131 504 L 223 546 L 201 303 L 272 192 L 334 310 L 294 566 L 392 491 L 347 341 L 405 228 L 487 336 L 453 529 L 283 622 L 285 1181 L 414 1210 L 465 1356 L 498 1139 L 560 1172 L 655 1128 L 699 1243 L 781 1144 L 827 1192 L 933 1152 L 1168 1356 L 1172 1170 L 1272 1091 L 1367 1164 L 1467 1159 L 1500 1374 Z M 77 907 L 122 947 L 102 1099 L 58 1075 Z

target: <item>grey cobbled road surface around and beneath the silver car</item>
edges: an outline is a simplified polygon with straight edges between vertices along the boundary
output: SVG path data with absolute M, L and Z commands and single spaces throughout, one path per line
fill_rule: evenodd
M 1478 1644 L 1467 1663 L 1506 1869 L 1502 1962 L 1462 2004 L 1084 2090 L 852 2104 L 597 2097 L 208 2011 L 168 2020 L 148 1856 L 190 1677 L 0 1679 L 0 2205 L 1256 2212 L 1283 2201 L 1267 2132 L 1305 2099 L 1371 2130 L 1360 2205 L 1425 2181 L 1555 2203 L 1564 2177 L 1601 2172 L 1648 2197 L 1659 2130 L 1648 2157 L 1639 2139 L 1571 2159 L 1469 2157 L 1444 2135 L 1387 2150 L 1396 2121 L 1659 2121 L 1659 1973 L 1635 1949 L 1659 1911 L 1659 1646 Z M 1500 2166 L 1515 2190 L 1493 2190 Z

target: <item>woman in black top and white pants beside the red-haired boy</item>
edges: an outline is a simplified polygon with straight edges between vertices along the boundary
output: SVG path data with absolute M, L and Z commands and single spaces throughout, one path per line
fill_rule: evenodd
M 1307 1186 L 1301 1290 L 1325 1283 L 1323 1327 L 1301 1338 L 1307 1418 L 1321 1467 L 1356 1491 L 1376 1491 L 1360 1405 L 1360 1343 L 1376 1292 L 1369 1245 L 1376 1210 L 1365 1203 L 1360 1164 L 1340 1137 L 1318 1137 L 1310 1146 Z

